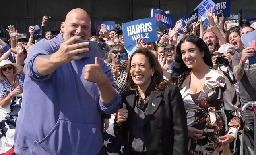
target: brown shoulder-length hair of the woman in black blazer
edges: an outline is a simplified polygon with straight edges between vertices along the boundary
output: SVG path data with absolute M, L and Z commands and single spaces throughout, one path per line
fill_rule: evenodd
M 134 55 L 136 54 L 145 55 L 145 57 L 147 57 L 147 59 L 149 60 L 150 68 L 155 69 L 155 73 L 151 77 L 152 91 L 155 91 L 156 93 L 158 93 L 159 91 L 163 91 L 165 87 L 168 87 L 168 83 L 163 79 L 163 70 L 161 68 L 161 65 L 159 64 L 155 55 L 151 51 L 149 51 L 149 49 L 141 48 L 141 49 L 137 49 L 134 53 L 132 53 L 128 63 L 127 81 L 128 81 L 129 89 L 136 90 L 138 88 L 137 85 L 132 80 L 132 76 L 130 73 L 132 57 L 134 57 Z

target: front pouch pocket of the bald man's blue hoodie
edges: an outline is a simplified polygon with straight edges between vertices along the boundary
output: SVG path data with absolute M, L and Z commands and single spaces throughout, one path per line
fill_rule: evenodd
M 34 142 L 35 155 L 96 155 L 103 146 L 97 123 L 58 119 L 45 138 Z

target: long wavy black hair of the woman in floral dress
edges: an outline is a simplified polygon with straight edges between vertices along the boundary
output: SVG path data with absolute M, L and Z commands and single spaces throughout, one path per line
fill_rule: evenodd
M 173 62 L 173 72 L 171 73 L 171 82 L 173 84 L 178 84 L 178 77 L 182 75 L 184 72 L 190 72 L 191 69 L 189 69 L 186 64 L 182 60 L 182 54 L 181 54 L 181 44 L 184 42 L 191 42 L 194 43 L 200 51 L 204 51 L 204 62 L 210 66 L 213 67 L 212 60 L 211 60 L 211 53 L 206 45 L 204 43 L 204 40 L 199 38 L 198 36 L 186 36 L 180 40 L 180 43 L 178 43 L 176 47 L 176 52 L 174 55 L 175 61 Z

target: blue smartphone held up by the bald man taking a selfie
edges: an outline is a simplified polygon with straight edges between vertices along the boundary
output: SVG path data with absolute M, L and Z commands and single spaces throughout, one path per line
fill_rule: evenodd
M 95 42 L 95 41 L 89 41 L 89 40 L 78 40 L 74 42 L 76 43 L 82 43 L 82 42 L 89 42 L 90 45 L 86 47 L 81 47 L 81 48 L 89 48 L 89 52 L 84 52 L 84 53 L 79 53 L 76 54 L 78 56 L 82 56 L 83 58 L 86 57 L 99 57 L 99 58 L 104 58 L 106 55 L 106 43 L 105 42 Z

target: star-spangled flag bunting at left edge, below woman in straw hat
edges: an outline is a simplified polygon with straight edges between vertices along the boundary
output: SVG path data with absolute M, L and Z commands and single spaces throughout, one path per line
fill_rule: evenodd
M 23 94 L 13 96 L 4 108 L 0 107 L 0 155 L 14 153 L 14 132 Z

